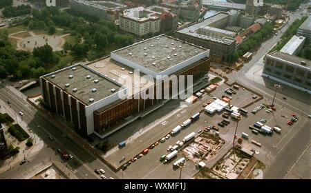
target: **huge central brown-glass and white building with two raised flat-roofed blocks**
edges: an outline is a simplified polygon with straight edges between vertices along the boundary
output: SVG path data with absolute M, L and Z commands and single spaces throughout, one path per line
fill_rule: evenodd
M 175 97 L 172 81 L 160 75 L 192 75 L 198 83 L 209 71 L 209 61 L 209 50 L 160 35 L 110 57 L 46 74 L 40 82 L 51 111 L 77 131 L 103 138 Z M 120 98 L 124 94 L 129 97 Z

